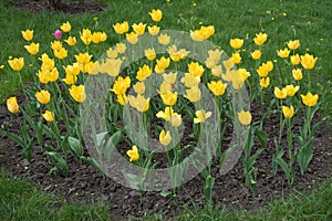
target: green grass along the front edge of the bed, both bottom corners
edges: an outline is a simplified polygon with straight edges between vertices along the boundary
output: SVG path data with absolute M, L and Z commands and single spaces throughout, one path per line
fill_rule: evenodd
M 232 211 L 224 207 L 185 208 L 178 220 L 329 220 L 332 219 L 332 183 L 322 185 L 307 196 L 278 199 L 257 211 Z M 27 180 L 13 179 L 0 170 L 1 220 L 110 220 L 108 206 L 69 203 L 32 187 Z M 131 218 L 128 218 L 131 219 Z M 163 220 L 158 214 L 143 220 Z

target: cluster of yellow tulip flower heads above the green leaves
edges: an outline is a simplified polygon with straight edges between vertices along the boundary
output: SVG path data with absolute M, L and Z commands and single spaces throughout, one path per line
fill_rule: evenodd
M 317 105 L 319 95 L 313 95 L 311 92 L 307 92 L 305 94 L 304 92 L 310 90 L 310 78 L 309 84 L 305 83 L 305 85 L 309 85 L 308 87 L 304 86 L 304 83 L 301 84 L 303 76 L 309 77 L 309 71 L 314 69 L 317 57 L 308 53 L 299 55 L 297 53 L 300 46 L 299 40 L 288 41 L 288 48 L 277 51 L 279 59 L 289 60 L 291 65 L 291 70 L 289 70 L 288 73 L 291 77 L 281 77 L 280 73 L 277 73 L 274 69 L 276 62 L 272 60 L 262 61 L 262 50 L 264 43 L 268 41 L 267 33 L 257 33 L 253 38 L 256 49 L 253 49 L 249 55 L 249 57 L 256 62 L 253 69 L 252 66 L 248 69 L 236 67 L 236 65 L 243 63 L 241 53 L 243 53 L 245 50 L 241 49 L 246 43 L 243 39 L 236 38 L 229 42 L 234 52 L 228 59 L 221 59 L 225 52 L 220 49 L 206 49 L 205 63 L 199 63 L 188 57 L 188 55 L 193 53 L 191 51 L 188 49 L 179 49 L 176 43 L 173 43 L 173 38 L 175 36 L 160 33 L 158 22 L 163 19 L 163 12 L 159 9 L 152 10 L 149 15 L 154 22 L 152 25 L 139 22 L 129 27 L 127 21 L 115 23 L 113 30 L 123 38 L 123 42 L 118 42 L 113 48 L 106 49 L 106 57 L 100 61 L 96 61 L 97 57 L 95 57 L 92 51 L 84 51 L 84 49 L 89 49 L 91 43 L 102 44 L 105 42 L 107 34 L 104 31 L 92 32 L 90 29 L 83 29 L 80 32 L 80 36 L 76 38 L 71 32 L 72 27 L 70 22 L 66 21 L 60 27 L 62 31 L 56 30 L 54 33 L 56 40 L 50 44 L 53 54 L 41 53 L 39 50 L 40 43 L 31 42 L 33 40 L 33 30 L 22 31 L 22 38 L 27 42 L 31 42 L 24 45 L 24 49 L 31 56 L 39 56 L 40 61 L 40 69 L 35 71 L 35 88 L 39 90 L 32 90 L 34 97 L 29 97 L 29 102 L 38 103 L 38 105 L 35 105 L 35 113 L 41 113 L 40 116 L 48 122 L 50 127 L 52 123 L 58 125 L 61 120 L 65 122 L 68 127 L 76 127 L 77 124 L 75 124 L 75 122 L 77 123 L 79 120 L 69 119 L 68 116 L 63 114 L 69 112 L 71 113 L 71 117 L 77 118 L 77 115 L 73 116 L 72 114 L 79 113 L 77 104 L 83 103 L 87 97 L 84 87 L 86 75 L 97 74 L 106 74 L 114 78 L 113 85 L 110 85 L 110 93 L 116 97 L 117 104 L 112 105 L 118 105 L 121 108 L 125 105 L 129 105 L 138 113 L 146 114 L 152 109 L 152 102 L 158 101 L 162 103 L 159 105 L 162 109 L 153 109 L 154 112 L 152 113 L 174 128 L 181 126 L 184 122 L 184 112 L 180 110 L 181 107 L 178 105 L 180 103 L 179 101 L 185 101 L 187 104 L 199 103 L 203 97 L 201 87 L 199 86 L 201 84 L 207 86 L 216 101 L 228 101 L 227 97 L 230 87 L 231 90 L 239 91 L 246 85 L 249 86 L 250 90 L 256 90 L 259 94 L 263 94 L 263 96 L 270 97 L 271 94 L 274 94 L 274 101 L 278 104 L 277 108 L 280 108 L 280 114 L 287 119 L 291 119 L 295 115 L 295 112 L 303 109 L 301 106 L 294 106 L 299 105 L 299 103 L 295 103 L 293 97 L 301 97 L 302 103 L 309 108 Z M 148 33 L 146 33 L 146 29 Z M 64 36 L 62 34 L 66 35 L 66 39 L 63 40 Z M 126 57 L 127 48 L 137 44 L 144 34 L 156 38 L 159 43 L 158 46 L 165 46 L 167 53 L 157 54 L 154 46 L 144 49 L 145 63 L 138 64 L 137 62 L 135 72 L 123 76 L 123 63 L 128 59 Z M 214 25 L 203 25 L 200 29 L 190 31 L 189 33 L 193 42 L 208 41 L 214 34 Z M 77 39 L 80 39 L 81 42 L 79 42 Z M 81 46 L 82 49 L 80 44 L 83 45 Z M 79 49 L 80 53 L 73 54 L 75 53 L 72 52 L 74 48 Z M 68 61 L 75 62 L 69 63 Z M 10 59 L 8 63 L 12 71 L 15 72 L 28 69 L 28 66 L 24 65 L 24 57 Z M 279 65 L 279 63 L 281 62 L 278 62 L 277 65 Z M 168 71 L 172 65 L 176 66 L 175 71 Z M 307 71 L 305 74 L 303 74 L 302 69 Z M 184 74 L 179 73 L 179 71 Z M 158 94 L 157 99 L 146 95 L 146 88 L 149 86 L 146 81 L 152 77 L 152 75 L 162 76 L 163 80 L 158 85 L 158 90 L 156 90 Z M 178 88 L 176 84 L 184 86 L 185 94 L 180 94 L 176 91 Z M 282 84 L 284 86 L 280 88 Z M 59 85 L 64 86 L 60 87 Z M 134 93 L 128 94 L 131 88 L 133 88 Z M 301 95 L 298 95 L 299 92 L 301 92 Z M 259 102 L 255 97 L 252 101 Z M 264 99 L 262 98 L 260 102 L 264 102 Z M 76 107 L 71 109 L 71 105 Z M 14 96 L 7 99 L 7 107 L 12 114 L 20 110 Z M 224 107 L 221 106 L 219 108 L 222 109 Z M 308 117 L 313 114 L 314 110 L 315 109 L 309 109 L 309 114 L 307 113 Z M 193 125 L 203 125 L 216 114 L 204 108 L 196 110 L 190 109 L 190 112 L 193 113 L 193 118 L 190 118 Z M 261 115 L 263 113 L 261 113 Z M 252 116 L 249 109 L 240 109 L 236 115 L 236 120 L 241 125 L 251 127 Z M 73 120 L 73 123 L 71 120 Z M 282 120 L 283 118 L 281 117 L 281 124 Z M 310 126 L 310 124 L 309 126 L 308 124 L 305 125 L 307 127 Z M 73 130 L 73 128 L 66 129 L 68 131 Z M 307 133 L 309 130 L 310 128 L 305 128 L 303 131 Z M 175 136 L 172 134 L 172 130 L 163 128 L 158 133 L 159 143 L 163 146 L 172 144 L 173 136 Z M 72 136 L 77 136 L 81 140 L 82 135 L 79 134 L 73 134 Z M 54 131 L 54 137 L 59 138 L 60 136 L 58 135 L 59 131 Z M 310 139 L 308 134 L 301 136 L 305 136 L 305 140 Z M 131 162 L 144 161 L 141 148 L 142 147 L 137 146 L 137 144 L 133 144 L 132 148 L 128 148 L 126 154 Z M 301 152 L 301 150 L 298 152 Z

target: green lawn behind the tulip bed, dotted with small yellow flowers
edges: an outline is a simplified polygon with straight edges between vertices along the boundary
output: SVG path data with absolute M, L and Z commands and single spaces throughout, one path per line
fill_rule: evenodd
M 8 1 L 8 0 L 7 0 Z M 116 22 L 128 21 L 152 23 L 148 12 L 159 8 L 164 18 L 159 25 L 168 30 L 189 31 L 203 24 L 214 24 L 216 34 L 211 41 L 220 45 L 226 52 L 231 52 L 230 38 L 243 38 L 246 44 L 252 41 L 255 33 L 264 31 L 269 34 L 269 41 L 264 45 L 263 60 L 276 57 L 276 50 L 283 49 L 284 43 L 291 39 L 300 39 L 299 53 L 309 51 L 319 57 L 317 69 L 311 73 L 315 80 L 313 90 L 321 95 L 323 113 L 332 114 L 331 70 L 332 70 L 332 2 L 330 0 L 299 0 L 294 1 L 247 1 L 247 0 L 201 0 L 193 6 L 191 0 L 146 0 L 146 1 L 106 1 L 108 10 L 98 14 L 54 14 L 42 12 L 32 14 L 13 8 L 4 7 L 7 1 L 0 3 L 2 19 L 0 21 L 2 41 L 0 42 L 0 102 L 4 102 L 10 95 L 17 94 L 20 88 L 18 73 L 10 71 L 7 64 L 8 56 L 27 56 L 23 49 L 25 44 L 21 38 L 21 30 L 33 29 L 33 41 L 41 43 L 41 51 L 51 52 L 49 43 L 53 40 L 52 33 L 60 24 L 69 20 L 72 23 L 72 33 L 77 35 L 83 28 L 94 29 L 93 18 L 98 18 L 96 30 L 106 31 L 108 39 L 106 46 L 113 45 L 118 38 L 112 25 Z M 270 11 L 270 13 L 266 13 Z M 287 13 L 287 15 L 283 15 Z M 272 21 L 271 19 L 274 18 Z M 251 50 L 250 46 L 247 50 Z M 33 61 L 27 61 L 31 63 Z M 28 69 L 27 69 L 28 70 Z M 32 78 L 31 71 L 22 71 L 27 81 Z

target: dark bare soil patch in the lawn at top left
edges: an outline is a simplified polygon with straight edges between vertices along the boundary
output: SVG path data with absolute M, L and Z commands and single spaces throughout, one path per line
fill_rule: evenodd
M 58 3 L 54 3 L 58 2 Z M 7 4 L 38 13 L 42 11 L 53 11 L 55 13 L 96 13 L 107 8 L 107 4 L 95 0 L 18 0 Z

